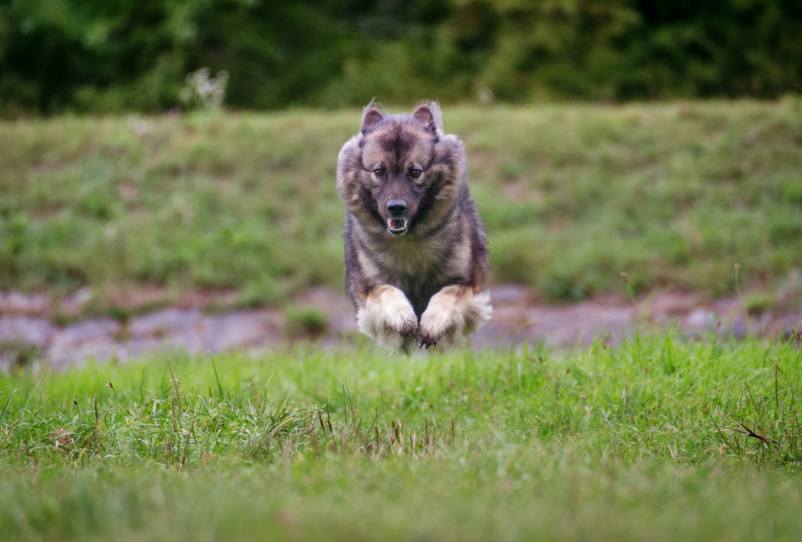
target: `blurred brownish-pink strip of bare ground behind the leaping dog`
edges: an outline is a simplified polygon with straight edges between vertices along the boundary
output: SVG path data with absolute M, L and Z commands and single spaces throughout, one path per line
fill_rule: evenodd
M 224 301 L 232 295 L 227 293 Z M 766 310 L 747 318 L 738 297 L 711 300 L 694 292 L 654 293 L 634 302 L 602 296 L 549 305 L 537 302 L 523 286 L 497 285 L 492 287 L 491 297 L 493 317 L 474 336 L 477 348 L 512 346 L 522 341 L 545 342 L 548 346 L 585 346 L 594 338 L 617 342 L 638 325 L 677 326 L 691 337 L 716 333 L 721 337 L 755 334 L 788 338 L 802 329 L 800 309 Z M 0 294 L 0 366 L 6 370 L 31 358 L 64 367 L 87 359 L 124 361 L 148 353 L 263 349 L 290 340 L 286 314 L 280 309 L 207 313 L 184 302 L 124 321 L 88 318 L 57 326 L 43 315 L 31 315 L 51 308 L 44 299 L 48 298 L 42 294 Z M 186 299 L 199 305 L 215 305 L 208 294 Z M 333 289 L 310 289 L 295 298 L 294 306 L 315 309 L 325 317 L 325 328 L 318 338 L 323 346 L 348 341 L 358 333 L 350 301 Z

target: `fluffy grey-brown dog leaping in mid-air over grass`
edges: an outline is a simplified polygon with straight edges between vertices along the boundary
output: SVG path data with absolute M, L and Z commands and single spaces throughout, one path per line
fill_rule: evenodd
M 417 345 L 462 346 L 492 314 L 464 145 L 444 132 L 437 103 L 412 115 L 373 106 L 337 160 L 358 329 L 405 354 Z

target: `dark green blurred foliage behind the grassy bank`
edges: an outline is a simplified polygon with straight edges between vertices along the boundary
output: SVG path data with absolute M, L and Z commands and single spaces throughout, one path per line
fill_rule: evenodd
M 802 91 L 798 0 L 0 0 L 0 112 Z

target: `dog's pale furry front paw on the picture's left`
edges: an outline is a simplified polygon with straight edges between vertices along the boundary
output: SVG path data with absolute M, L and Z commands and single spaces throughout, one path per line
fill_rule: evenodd
M 357 311 L 356 325 L 380 345 L 407 352 L 415 343 L 418 317 L 401 290 L 383 285 L 375 288 Z

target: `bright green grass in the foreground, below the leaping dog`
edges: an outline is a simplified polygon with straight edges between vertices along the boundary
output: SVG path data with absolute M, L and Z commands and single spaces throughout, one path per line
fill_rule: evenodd
M 794 343 L 670 335 L 31 367 L 0 378 L 0 532 L 798 540 L 800 377 Z

